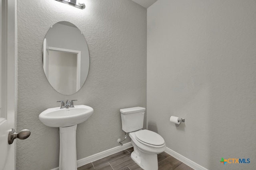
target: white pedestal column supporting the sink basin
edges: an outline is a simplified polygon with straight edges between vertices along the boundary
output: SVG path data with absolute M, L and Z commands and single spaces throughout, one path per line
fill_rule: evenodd
M 76 127 L 60 127 L 60 162 L 59 170 L 77 170 Z

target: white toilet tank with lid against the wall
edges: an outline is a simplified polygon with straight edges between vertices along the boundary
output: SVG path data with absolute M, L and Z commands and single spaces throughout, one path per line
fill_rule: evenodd
M 144 107 L 120 109 L 123 131 L 128 133 L 142 129 L 145 110 Z

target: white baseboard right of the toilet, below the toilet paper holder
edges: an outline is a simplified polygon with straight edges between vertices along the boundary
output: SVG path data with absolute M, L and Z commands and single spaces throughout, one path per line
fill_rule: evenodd
M 195 170 L 208 170 L 208 169 L 204 168 L 203 166 L 197 164 L 196 162 L 193 162 L 192 160 L 186 158 L 185 156 L 182 156 L 181 154 L 175 152 L 174 150 L 172 150 L 170 148 L 166 147 L 165 152 L 170 154 L 174 158 L 180 160 L 181 162 L 183 162 L 184 164 L 190 166 L 191 168 L 193 168 Z

